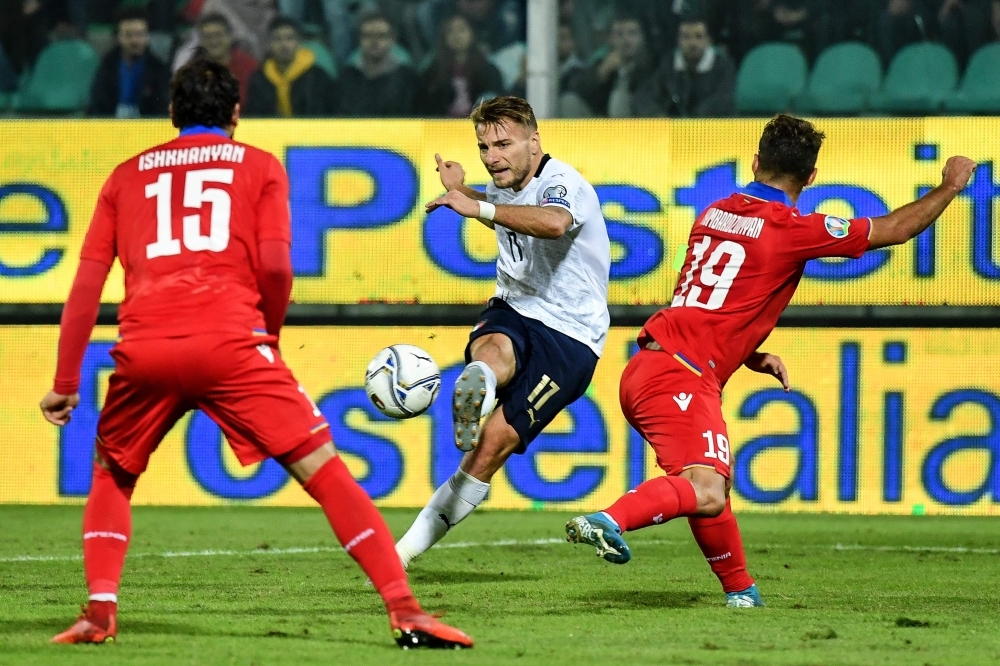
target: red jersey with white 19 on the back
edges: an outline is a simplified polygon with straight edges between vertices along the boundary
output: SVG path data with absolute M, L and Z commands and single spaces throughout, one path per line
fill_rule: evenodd
M 652 338 L 724 385 L 770 335 L 806 262 L 860 257 L 870 233 L 870 218 L 803 215 L 781 190 L 751 183 L 698 216 L 670 308 L 646 322 L 639 344 Z

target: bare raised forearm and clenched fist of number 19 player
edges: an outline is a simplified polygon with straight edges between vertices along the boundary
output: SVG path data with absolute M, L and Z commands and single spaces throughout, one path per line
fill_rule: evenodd
M 941 184 L 902 208 L 884 217 L 872 218 L 868 248 L 900 245 L 931 226 L 941 216 L 958 193 L 965 189 L 976 170 L 976 163 L 967 157 L 952 157 L 941 172 Z

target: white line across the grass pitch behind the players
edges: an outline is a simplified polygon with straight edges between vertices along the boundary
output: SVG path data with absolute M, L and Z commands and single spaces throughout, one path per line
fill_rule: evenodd
M 499 541 L 456 541 L 454 543 L 442 543 L 435 548 L 506 548 L 511 546 L 549 546 L 553 544 L 565 543 L 565 539 L 502 539 Z M 637 540 L 635 545 L 655 545 L 655 546 L 676 546 L 685 545 L 687 541 L 671 541 L 663 539 L 642 539 Z M 863 544 L 835 544 L 833 546 L 823 545 L 791 545 L 791 544 L 753 544 L 753 549 L 787 548 L 800 550 L 835 550 L 835 551 L 860 551 L 879 553 L 958 553 L 969 555 L 998 555 L 1000 549 L 997 548 L 967 548 L 964 546 L 866 546 Z M 162 553 L 130 553 L 129 557 L 247 557 L 258 555 L 303 555 L 316 553 L 341 553 L 343 548 L 333 546 L 313 546 L 304 548 L 255 548 L 253 550 L 182 550 L 165 551 Z M 17 555 L 13 557 L 0 557 L 0 563 L 12 562 L 75 562 L 82 560 L 82 555 Z

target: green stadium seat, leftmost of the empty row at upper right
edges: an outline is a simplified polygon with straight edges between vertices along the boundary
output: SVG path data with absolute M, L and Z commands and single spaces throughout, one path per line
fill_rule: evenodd
M 743 115 L 771 115 L 792 108 L 806 85 L 805 56 L 791 44 L 761 44 L 743 58 L 736 77 L 736 108 Z

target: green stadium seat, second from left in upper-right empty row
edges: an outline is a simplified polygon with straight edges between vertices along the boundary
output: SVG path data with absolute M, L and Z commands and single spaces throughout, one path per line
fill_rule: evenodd
M 868 108 L 881 83 L 882 63 L 870 46 L 836 44 L 816 60 L 795 108 L 817 115 L 855 115 Z

